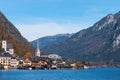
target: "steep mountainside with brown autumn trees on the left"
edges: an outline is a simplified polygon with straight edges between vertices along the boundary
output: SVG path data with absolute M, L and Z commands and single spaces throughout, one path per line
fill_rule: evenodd
M 26 52 L 34 52 L 34 47 L 20 34 L 16 27 L 0 12 L 0 41 L 7 40 L 13 45 L 15 53 L 19 56 Z M 0 50 L 1 44 L 0 44 Z

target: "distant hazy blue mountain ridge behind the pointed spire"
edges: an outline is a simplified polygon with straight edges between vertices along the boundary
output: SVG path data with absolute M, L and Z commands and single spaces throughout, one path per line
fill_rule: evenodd
M 68 39 L 72 34 L 57 34 L 57 35 L 54 35 L 54 36 L 46 36 L 46 37 L 42 37 L 42 38 L 39 38 L 39 45 L 40 45 L 40 48 L 43 49 L 44 47 L 47 47 L 47 46 L 51 46 L 53 44 L 57 44 L 59 42 L 62 42 L 66 39 Z M 31 42 L 31 44 L 36 47 L 37 46 L 37 40 L 34 40 Z

